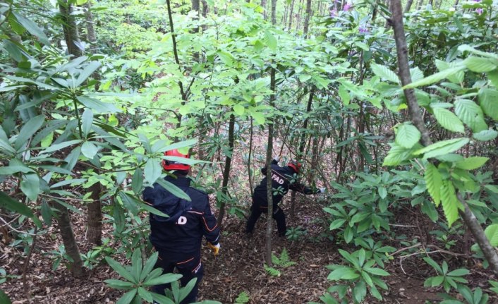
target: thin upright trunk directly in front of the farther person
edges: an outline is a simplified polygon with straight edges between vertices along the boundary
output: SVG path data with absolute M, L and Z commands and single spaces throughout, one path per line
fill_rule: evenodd
M 269 87 L 272 90 L 272 95 L 269 97 L 269 106 L 274 107 L 275 102 L 275 69 L 272 68 L 269 76 Z M 268 146 L 267 146 L 267 250 L 266 261 L 267 265 L 272 265 L 272 224 L 273 224 L 273 187 L 272 187 L 272 150 L 273 150 L 273 121 L 268 121 Z

